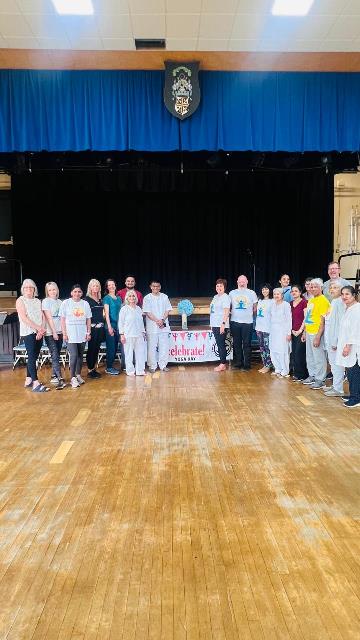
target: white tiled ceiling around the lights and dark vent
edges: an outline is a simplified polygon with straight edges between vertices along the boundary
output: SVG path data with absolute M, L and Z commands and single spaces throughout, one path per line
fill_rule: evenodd
M 51 0 L 0 0 L 0 47 L 172 51 L 360 51 L 360 0 L 314 0 L 276 17 L 273 0 L 93 0 L 93 16 L 59 16 Z

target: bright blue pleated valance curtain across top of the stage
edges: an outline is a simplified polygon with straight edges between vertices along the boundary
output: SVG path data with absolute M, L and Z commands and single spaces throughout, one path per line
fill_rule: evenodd
M 180 122 L 161 71 L 0 71 L 0 151 L 357 151 L 360 74 L 200 72 Z

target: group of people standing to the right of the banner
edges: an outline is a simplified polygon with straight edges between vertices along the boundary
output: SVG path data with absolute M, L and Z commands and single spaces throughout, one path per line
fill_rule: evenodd
M 226 293 L 226 280 L 216 282 L 210 323 L 218 345 L 220 364 L 226 369 L 225 340 L 233 338 L 235 368 L 250 370 L 251 338 L 255 319 L 263 366 L 261 373 L 289 378 L 327 397 L 342 397 L 346 407 L 360 406 L 360 304 L 355 289 L 340 277 L 337 262 L 328 265 L 329 279 L 307 278 L 304 288 L 281 275 L 279 287 L 261 287 L 259 298 L 248 289 L 246 276 L 237 289 Z M 328 374 L 328 364 L 330 372 Z M 344 396 L 344 378 L 349 395 Z M 330 376 L 332 385 L 327 386 Z

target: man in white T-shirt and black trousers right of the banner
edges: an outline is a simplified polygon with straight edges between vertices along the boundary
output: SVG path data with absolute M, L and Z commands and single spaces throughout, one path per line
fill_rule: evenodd
M 251 335 L 253 320 L 256 314 L 257 295 L 252 289 L 248 289 L 246 276 L 239 276 L 237 289 L 230 291 L 231 316 L 230 331 L 234 346 L 234 367 L 243 371 L 249 371 L 251 364 Z

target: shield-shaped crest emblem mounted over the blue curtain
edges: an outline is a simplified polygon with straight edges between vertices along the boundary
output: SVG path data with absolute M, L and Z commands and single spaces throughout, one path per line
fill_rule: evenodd
M 165 61 L 164 102 L 176 118 L 192 116 L 200 103 L 198 62 Z

